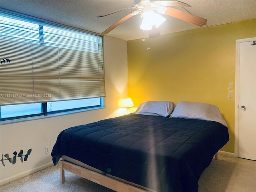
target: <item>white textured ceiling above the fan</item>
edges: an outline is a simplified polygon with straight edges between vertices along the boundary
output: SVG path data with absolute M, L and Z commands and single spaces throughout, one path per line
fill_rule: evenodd
M 191 5 L 186 7 L 190 13 L 208 20 L 203 27 L 256 18 L 256 0 L 184 0 L 182 2 Z M 130 8 L 133 5 L 133 0 L 0 0 L 2 10 L 7 9 L 99 34 L 134 9 L 102 18 L 95 16 Z M 181 7 L 176 8 L 185 11 Z M 199 28 L 171 16 L 165 17 L 166 22 L 159 27 L 160 34 Z M 139 28 L 140 23 L 139 15 L 133 16 L 107 35 L 123 40 L 146 38 L 148 33 Z

